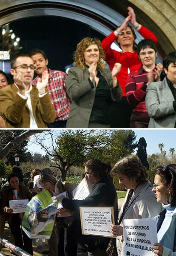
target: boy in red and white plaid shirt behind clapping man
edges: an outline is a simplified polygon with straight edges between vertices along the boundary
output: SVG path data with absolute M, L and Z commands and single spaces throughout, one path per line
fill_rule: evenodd
M 33 49 L 29 52 L 29 55 L 36 67 L 37 77 L 32 82 L 34 85 L 37 85 L 37 81 L 42 76 L 43 71 L 47 70 L 49 73 L 47 88 L 51 102 L 56 110 L 56 119 L 48 125 L 48 128 L 65 128 L 71 107 L 71 101 L 67 95 L 65 85 L 67 75 L 62 71 L 51 70 L 47 67 L 48 58 L 44 51 Z

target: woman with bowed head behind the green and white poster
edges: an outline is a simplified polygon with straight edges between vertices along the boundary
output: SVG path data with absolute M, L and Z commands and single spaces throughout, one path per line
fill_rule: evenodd
M 69 198 L 72 198 L 74 186 L 69 182 L 61 182 L 53 175 L 48 173 L 40 174 L 38 183 L 45 189 L 50 191 L 52 196 L 56 196 L 64 191 L 68 193 Z M 67 246 L 67 230 L 71 217 L 57 217 L 57 230 L 54 225 L 53 232 L 48 240 L 48 248 L 50 256 L 65 256 L 65 247 Z M 58 240 L 58 241 L 57 241 Z

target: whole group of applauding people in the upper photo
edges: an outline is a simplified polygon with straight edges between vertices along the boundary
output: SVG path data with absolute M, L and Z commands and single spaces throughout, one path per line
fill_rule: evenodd
M 138 46 L 134 28 L 145 38 Z M 111 49 L 114 41 L 122 51 Z M 156 47 L 156 36 L 128 7 L 128 17 L 102 43 L 86 37 L 77 44 L 68 76 L 49 69 L 40 49 L 14 57 L 14 84 L 0 80 L 0 126 L 174 128 L 176 51 L 164 58 L 163 70 L 156 64 Z

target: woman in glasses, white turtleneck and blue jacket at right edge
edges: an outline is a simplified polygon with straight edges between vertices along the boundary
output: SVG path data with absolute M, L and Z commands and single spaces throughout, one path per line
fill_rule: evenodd
M 157 256 L 176 256 L 176 164 L 159 166 L 152 191 L 164 210 L 157 218 L 158 241 L 153 245 Z

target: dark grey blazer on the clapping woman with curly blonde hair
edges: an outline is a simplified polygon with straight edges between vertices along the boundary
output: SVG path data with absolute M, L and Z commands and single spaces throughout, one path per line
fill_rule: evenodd
M 111 71 L 106 68 L 100 68 L 100 73 L 111 88 L 111 98 L 119 101 L 122 98 L 122 89 L 118 85 L 112 88 Z M 67 120 L 67 128 L 88 128 L 91 111 L 94 105 L 96 85 L 91 87 L 89 81 L 88 68 L 83 70 L 81 67 L 72 67 L 68 71 L 66 79 L 67 93 L 71 98 L 71 110 Z

